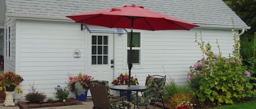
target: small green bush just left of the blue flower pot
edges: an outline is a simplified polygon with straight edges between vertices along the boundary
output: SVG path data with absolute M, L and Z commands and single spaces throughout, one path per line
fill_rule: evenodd
M 66 90 L 66 88 L 62 89 L 61 86 L 58 85 L 57 87 L 55 87 L 55 91 L 55 97 L 59 101 L 68 100 L 69 92 Z

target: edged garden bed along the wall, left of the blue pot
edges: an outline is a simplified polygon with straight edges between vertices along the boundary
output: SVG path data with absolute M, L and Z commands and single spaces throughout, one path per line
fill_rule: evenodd
M 66 102 L 54 101 L 54 102 L 43 102 L 41 104 L 34 104 L 28 101 L 19 100 L 17 106 L 21 109 L 26 108 L 41 108 L 41 107 L 56 107 L 56 106 L 69 106 L 69 105 L 82 105 L 81 101 L 74 98 L 68 98 Z

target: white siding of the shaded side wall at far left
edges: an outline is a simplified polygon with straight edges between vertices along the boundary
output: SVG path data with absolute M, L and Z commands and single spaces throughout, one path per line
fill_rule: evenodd
M 9 27 L 11 29 L 11 31 L 10 31 L 11 51 L 10 51 L 10 56 L 9 56 L 9 49 L 6 50 L 6 47 L 4 47 L 4 72 L 8 72 L 8 71 L 15 72 L 15 55 L 16 55 L 15 54 L 16 53 L 16 20 L 15 19 L 8 18 L 7 21 L 5 21 L 5 29 L 8 29 Z M 4 29 L 4 31 L 5 31 L 5 29 Z M 7 31 L 7 33 L 5 32 L 5 34 L 8 34 L 8 33 L 9 33 L 9 30 Z M 7 38 L 8 37 L 9 36 L 7 36 Z M 4 36 L 4 39 L 6 40 L 6 36 Z M 7 42 L 7 44 L 6 44 L 6 42 L 4 42 L 4 45 L 9 46 L 9 42 Z M 7 51 L 7 55 L 6 55 L 6 51 Z

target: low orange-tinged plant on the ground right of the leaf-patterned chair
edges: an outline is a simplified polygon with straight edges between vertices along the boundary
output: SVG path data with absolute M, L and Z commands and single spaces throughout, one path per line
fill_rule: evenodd
M 192 98 L 191 93 L 176 93 L 174 97 L 171 98 L 169 104 L 171 108 L 176 108 L 178 104 L 181 104 L 183 101 L 191 101 Z

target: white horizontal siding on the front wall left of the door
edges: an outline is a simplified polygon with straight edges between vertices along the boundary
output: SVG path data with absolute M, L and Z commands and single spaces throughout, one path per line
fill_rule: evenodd
M 24 82 L 23 94 L 34 86 L 47 97 L 54 87 L 66 87 L 69 75 L 85 71 L 85 31 L 74 22 L 19 20 L 17 69 Z M 74 57 L 74 50 L 81 57 Z

